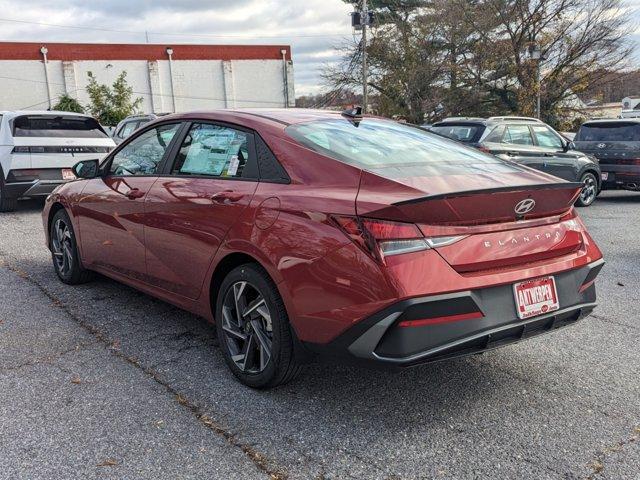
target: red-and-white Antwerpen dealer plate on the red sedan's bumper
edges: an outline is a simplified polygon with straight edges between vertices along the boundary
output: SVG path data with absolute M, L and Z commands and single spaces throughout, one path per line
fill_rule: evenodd
M 521 320 L 546 315 L 560 309 L 553 276 L 525 280 L 513 285 L 516 312 Z

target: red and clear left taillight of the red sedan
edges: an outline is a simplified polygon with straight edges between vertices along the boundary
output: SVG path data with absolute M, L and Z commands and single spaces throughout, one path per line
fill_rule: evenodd
M 385 257 L 451 245 L 464 238 L 425 238 L 413 223 L 347 216 L 332 218 L 358 246 L 383 263 Z

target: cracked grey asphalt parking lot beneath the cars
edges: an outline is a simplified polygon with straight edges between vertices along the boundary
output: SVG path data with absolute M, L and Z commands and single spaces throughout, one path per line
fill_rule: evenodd
M 0 478 L 640 479 L 640 193 L 580 210 L 607 265 L 578 325 L 266 392 L 232 378 L 204 320 L 60 283 L 41 206 L 0 216 Z

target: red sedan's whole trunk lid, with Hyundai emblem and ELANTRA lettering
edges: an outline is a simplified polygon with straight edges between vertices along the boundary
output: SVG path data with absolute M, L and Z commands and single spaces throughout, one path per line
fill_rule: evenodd
M 415 223 L 427 238 L 459 237 L 434 249 L 473 275 L 582 249 L 581 224 L 568 215 L 581 187 L 529 169 L 394 180 L 364 172 L 356 204 L 360 216 Z

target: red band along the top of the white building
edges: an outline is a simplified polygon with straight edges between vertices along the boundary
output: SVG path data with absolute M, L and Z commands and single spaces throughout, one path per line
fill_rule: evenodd
M 42 60 L 40 48 L 49 50 L 49 60 L 167 60 L 167 47 L 174 60 L 280 60 L 288 45 L 150 45 L 114 43 L 22 43 L 0 42 L 0 60 Z

